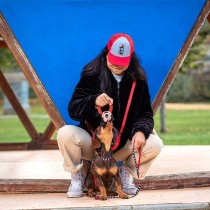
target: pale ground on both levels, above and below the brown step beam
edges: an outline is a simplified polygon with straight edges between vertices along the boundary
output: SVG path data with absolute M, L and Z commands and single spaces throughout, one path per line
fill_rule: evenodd
M 210 146 L 165 146 L 149 176 L 210 171 Z M 0 179 L 64 179 L 58 150 L 0 152 Z M 0 192 L 0 209 L 210 209 L 210 187 L 145 190 L 138 196 L 98 201 L 65 193 L 12 194 Z

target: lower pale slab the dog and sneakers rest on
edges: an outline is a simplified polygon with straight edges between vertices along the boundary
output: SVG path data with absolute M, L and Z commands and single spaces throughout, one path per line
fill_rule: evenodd
M 209 202 L 210 187 L 140 191 L 138 196 L 131 199 L 122 200 L 119 198 L 110 198 L 107 201 L 99 201 L 87 196 L 81 198 L 67 198 L 65 193 L 0 194 L 0 209 L 2 210 L 74 208 L 193 209 L 193 206 L 196 208 L 199 207 L 197 209 L 209 209 Z

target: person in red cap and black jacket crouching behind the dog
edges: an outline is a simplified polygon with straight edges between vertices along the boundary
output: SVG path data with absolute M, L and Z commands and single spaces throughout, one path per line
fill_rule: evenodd
M 153 111 L 146 75 L 134 51 L 132 38 L 127 34 L 113 35 L 103 51 L 81 73 L 68 105 L 68 112 L 78 126 L 66 125 L 58 130 L 57 141 L 64 158 L 64 170 L 71 173 L 68 197 L 80 197 L 84 188 L 85 160 L 92 160 L 92 134 L 100 124 L 97 106 L 107 110 L 113 106 L 113 125 L 120 131 L 126 107 L 135 81 L 120 144 L 114 151 L 120 167 L 123 191 L 135 194 L 133 179 L 144 179 L 154 159 L 162 149 L 162 140 L 153 135 Z M 132 157 L 132 148 L 141 150 L 140 177 Z M 136 153 L 138 156 L 138 154 Z M 137 157 L 138 159 L 138 157 Z

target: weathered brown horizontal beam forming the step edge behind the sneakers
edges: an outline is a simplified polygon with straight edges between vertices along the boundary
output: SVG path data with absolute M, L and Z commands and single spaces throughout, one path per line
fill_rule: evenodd
M 140 184 L 141 190 L 177 189 L 210 186 L 210 172 L 150 176 Z M 35 193 L 66 192 L 70 180 L 65 179 L 1 179 L 0 192 Z

